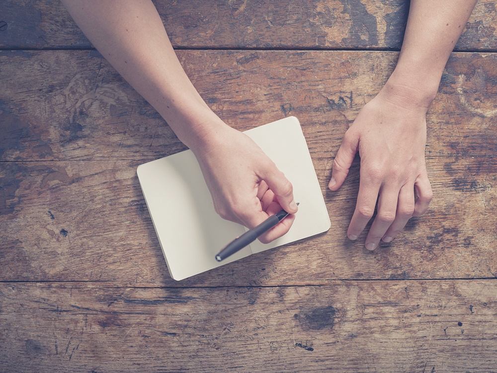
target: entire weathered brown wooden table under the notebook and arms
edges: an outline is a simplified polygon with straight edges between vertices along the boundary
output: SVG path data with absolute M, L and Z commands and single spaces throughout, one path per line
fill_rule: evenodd
M 358 161 L 327 183 L 395 66 L 408 1 L 157 5 L 228 124 L 300 119 L 331 229 L 172 280 L 136 167 L 185 146 L 58 1 L 2 1 L 0 372 L 496 372 L 495 2 L 427 116 L 430 209 L 374 252 L 345 237 Z

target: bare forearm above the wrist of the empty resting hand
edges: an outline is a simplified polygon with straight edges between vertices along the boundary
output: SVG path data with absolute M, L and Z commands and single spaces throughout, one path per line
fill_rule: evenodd
M 476 0 L 412 0 L 397 66 L 387 85 L 428 107 Z M 403 88 L 409 93 L 404 93 Z

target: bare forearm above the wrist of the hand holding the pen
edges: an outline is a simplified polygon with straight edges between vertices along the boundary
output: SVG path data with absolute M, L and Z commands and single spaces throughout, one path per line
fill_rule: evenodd
M 190 148 L 222 126 L 179 63 L 150 0 L 63 0 L 110 64 Z

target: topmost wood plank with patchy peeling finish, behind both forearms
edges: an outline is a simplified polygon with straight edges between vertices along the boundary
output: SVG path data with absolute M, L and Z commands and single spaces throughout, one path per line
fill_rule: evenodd
M 407 0 L 157 0 L 175 47 L 400 49 Z M 480 0 L 456 50 L 497 50 L 495 1 Z M 91 48 L 58 0 L 0 2 L 0 48 Z

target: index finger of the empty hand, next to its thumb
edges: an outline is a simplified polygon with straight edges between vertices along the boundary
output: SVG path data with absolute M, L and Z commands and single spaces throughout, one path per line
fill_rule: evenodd
M 349 239 L 356 240 L 373 216 L 379 190 L 379 183 L 373 184 L 370 180 L 366 181 L 361 177 L 359 192 L 357 193 L 357 203 L 347 230 L 347 237 Z

